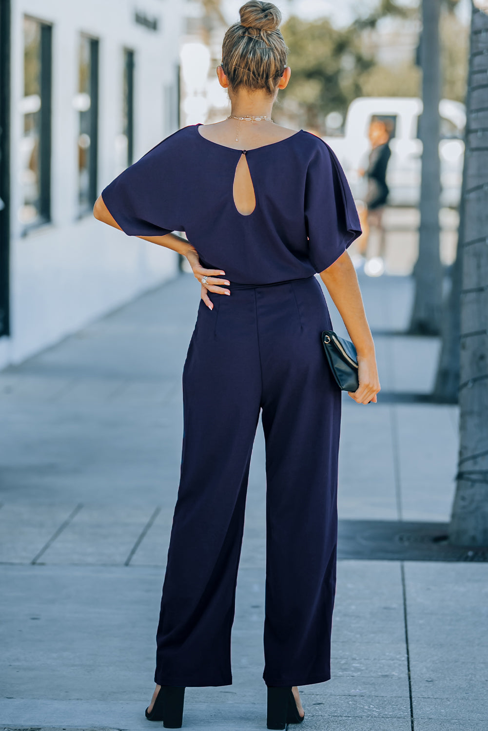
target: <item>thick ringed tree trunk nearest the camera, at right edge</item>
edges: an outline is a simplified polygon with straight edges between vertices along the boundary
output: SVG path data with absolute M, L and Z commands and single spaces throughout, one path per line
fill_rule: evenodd
M 462 245 L 459 458 L 449 540 L 488 546 L 488 15 L 473 7 Z

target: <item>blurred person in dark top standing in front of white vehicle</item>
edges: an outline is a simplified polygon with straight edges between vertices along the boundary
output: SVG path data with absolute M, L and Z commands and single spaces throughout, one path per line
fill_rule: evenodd
M 373 119 L 369 124 L 368 137 L 371 143 L 369 164 L 366 170 L 358 172 L 367 180 L 367 191 L 364 205 L 359 205 L 359 219 L 362 235 L 356 242 L 359 257 L 356 265 L 364 264 L 364 273 L 369 276 L 379 276 L 385 270 L 385 230 L 383 228 L 383 211 L 388 199 L 386 184 L 386 170 L 391 156 L 390 150 L 391 127 L 388 122 Z M 369 232 L 373 227 L 378 232 L 378 254 L 368 258 Z

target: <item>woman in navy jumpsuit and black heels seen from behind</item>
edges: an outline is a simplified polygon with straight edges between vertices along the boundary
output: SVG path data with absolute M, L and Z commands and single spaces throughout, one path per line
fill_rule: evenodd
M 341 392 L 320 333 L 320 273 L 358 351 L 358 404 L 380 390 L 345 249 L 361 228 L 348 183 L 315 135 L 278 126 L 290 79 L 281 16 L 240 9 L 222 45 L 231 114 L 179 129 L 112 181 L 94 215 L 187 257 L 201 300 L 183 371 L 181 477 L 146 716 L 179 728 L 187 686 L 232 683 L 230 630 L 252 444 L 266 436 L 268 728 L 303 719 L 298 686 L 330 678 Z M 243 119 L 245 117 L 245 119 Z M 171 232 L 184 231 L 184 243 Z

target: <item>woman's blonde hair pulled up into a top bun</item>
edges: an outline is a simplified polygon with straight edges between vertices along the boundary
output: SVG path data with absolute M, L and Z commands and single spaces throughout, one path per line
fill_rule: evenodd
M 222 69 L 229 86 L 266 89 L 274 95 L 286 68 L 290 50 L 279 23 L 281 12 L 271 2 L 249 0 L 239 8 L 240 23 L 233 23 L 222 42 Z

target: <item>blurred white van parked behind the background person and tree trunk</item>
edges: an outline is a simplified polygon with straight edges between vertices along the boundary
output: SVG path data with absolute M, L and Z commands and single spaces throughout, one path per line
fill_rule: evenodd
M 348 176 L 356 200 L 364 196 L 365 181 L 358 174 L 367 168 L 371 148 L 368 138 L 373 119 L 388 121 L 393 130 L 386 183 L 390 189 L 389 205 L 416 206 L 420 200 L 422 143 L 417 136 L 422 100 L 402 96 L 363 96 L 350 103 L 345 118 L 345 134 L 324 137 Z M 464 156 L 463 132 L 465 106 L 451 99 L 442 99 L 440 114 L 440 203 L 456 208 L 459 204 Z

